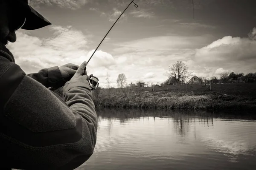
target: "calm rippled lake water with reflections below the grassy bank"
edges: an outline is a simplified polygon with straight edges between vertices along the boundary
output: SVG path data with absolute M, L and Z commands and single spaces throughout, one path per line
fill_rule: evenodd
M 76 170 L 256 170 L 256 115 L 105 109 Z

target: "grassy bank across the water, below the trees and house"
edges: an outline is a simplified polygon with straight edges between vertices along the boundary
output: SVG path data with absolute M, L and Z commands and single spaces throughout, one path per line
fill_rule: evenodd
M 208 111 L 241 111 L 256 109 L 256 83 L 177 85 L 169 87 L 99 89 L 93 101 L 99 108 L 154 108 Z

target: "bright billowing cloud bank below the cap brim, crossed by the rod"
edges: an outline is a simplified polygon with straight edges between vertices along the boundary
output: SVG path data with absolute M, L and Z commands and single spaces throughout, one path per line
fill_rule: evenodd
M 17 41 L 7 46 L 15 56 L 15 61 L 26 74 L 37 72 L 42 68 L 61 66 L 67 63 L 80 65 L 93 53 L 87 47 L 88 40 L 81 31 L 71 26 L 51 26 L 53 38 L 39 39 L 26 32 L 17 31 Z M 113 57 L 104 51 L 96 51 L 88 68 L 108 68 L 114 65 Z

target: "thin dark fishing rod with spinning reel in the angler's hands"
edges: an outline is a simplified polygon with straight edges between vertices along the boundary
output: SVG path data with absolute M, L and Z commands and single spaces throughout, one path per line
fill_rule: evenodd
M 131 1 L 131 3 L 125 8 L 125 10 L 122 12 L 122 14 L 126 11 L 126 9 L 132 4 L 134 3 L 134 0 Z M 135 8 L 138 8 L 138 5 L 136 3 L 134 3 L 134 7 Z M 119 18 L 122 16 L 122 14 L 117 18 L 116 22 L 119 20 Z M 116 22 L 113 24 L 113 26 L 116 24 Z M 105 35 L 105 37 L 107 37 L 108 33 L 110 32 L 110 30 L 113 28 L 113 26 L 111 26 L 111 28 L 108 30 L 107 34 Z M 102 41 L 99 43 L 99 45 L 101 45 L 101 43 L 103 42 L 103 40 L 105 39 L 105 37 L 102 39 Z M 96 52 L 96 50 L 99 48 L 99 45 L 98 47 L 94 50 L 93 54 Z M 90 59 L 93 57 L 93 54 L 91 55 L 91 57 L 89 58 L 89 60 L 87 61 L 87 64 L 88 62 L 90 61 Z M 84 69 L 84 72 L 86 70 L 86 67 Z M 83 73 L 84 74 L 84 73 Z M 99 79 L 95 76 L 93 76 L 93 74 L 90 75 L 89 77 L 89 85 L 90 87 L 95 90 L 98 86 L 99 86 Z

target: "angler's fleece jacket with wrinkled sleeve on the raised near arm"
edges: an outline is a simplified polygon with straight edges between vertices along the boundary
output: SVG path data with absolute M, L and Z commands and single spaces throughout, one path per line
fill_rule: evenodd
M 63 99 L 48 87 L 63 87 Z M 25 74 L 0 46 L 0 169 L 73 170 L 93 154 L 97 115 L 87 81 L 58 66 Z

